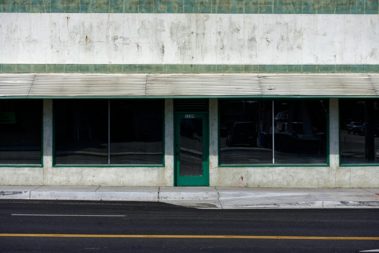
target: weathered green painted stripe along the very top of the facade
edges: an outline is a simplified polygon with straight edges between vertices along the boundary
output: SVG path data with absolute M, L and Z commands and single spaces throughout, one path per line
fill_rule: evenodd
M 3 13 L 378 14 L 379 0 L 1 0 Z

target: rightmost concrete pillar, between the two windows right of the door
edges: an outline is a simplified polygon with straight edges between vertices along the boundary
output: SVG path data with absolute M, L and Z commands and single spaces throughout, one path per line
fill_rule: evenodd
M 332 169 L 332 187 L 335 187 L 335 171 L 339 168 L 339 113 L 338 98 L 329 99 L 329 164 Z

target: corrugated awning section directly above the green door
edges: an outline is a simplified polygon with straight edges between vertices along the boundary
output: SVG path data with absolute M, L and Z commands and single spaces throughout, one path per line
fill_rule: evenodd
M 147 96 L 261 95 L 258 74 L 148 75 Z

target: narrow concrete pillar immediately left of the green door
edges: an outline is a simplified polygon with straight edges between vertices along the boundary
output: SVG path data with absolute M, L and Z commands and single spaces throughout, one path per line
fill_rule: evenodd
M 165 99 L 165 184 L 174 186 L 174 100 Z

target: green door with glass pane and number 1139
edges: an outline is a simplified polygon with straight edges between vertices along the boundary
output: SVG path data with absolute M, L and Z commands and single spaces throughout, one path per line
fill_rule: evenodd
M 175 115 L 175 185 L 209 186 L 208 114 Z

